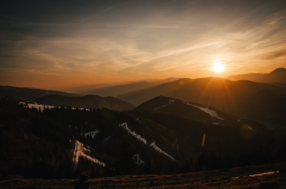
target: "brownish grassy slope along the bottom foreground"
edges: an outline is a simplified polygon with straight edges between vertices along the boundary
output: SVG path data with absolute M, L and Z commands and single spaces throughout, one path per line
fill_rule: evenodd
M 89 188 L 285 188 L 286 173 L 248 176 L 281 170 L 286 162 L 219 169 L 177 175 L 122 175 L 89 179 Z M 238 177 L 238 178 L 236 178 Z M 11 178 L 0 181 L 1 188 L 70 188 L 78 180 Z

